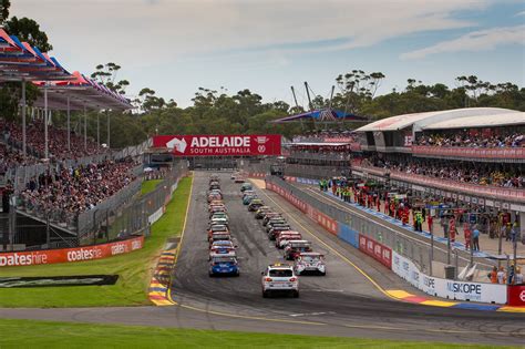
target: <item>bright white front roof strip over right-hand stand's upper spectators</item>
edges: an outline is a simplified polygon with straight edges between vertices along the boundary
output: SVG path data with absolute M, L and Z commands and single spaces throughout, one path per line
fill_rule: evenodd
M 497 126 L 517 126 L 525 125 L 525 112 L 514 112 L 506 114 L 485 114 L 477 116 L 446 120 L 426 125 L 426 130 L 445 129 L 476 129 L 476 127 L 497 127 Z

